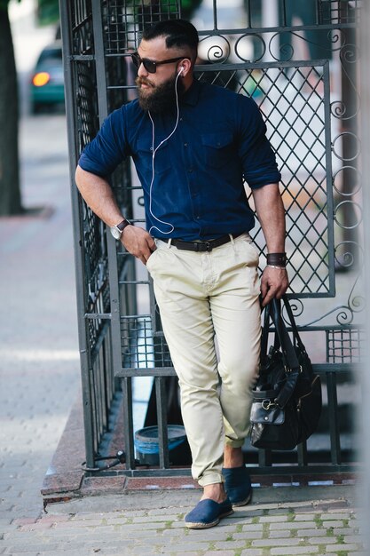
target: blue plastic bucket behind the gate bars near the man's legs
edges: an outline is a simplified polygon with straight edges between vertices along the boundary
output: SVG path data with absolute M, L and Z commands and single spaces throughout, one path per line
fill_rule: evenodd
M 183 451 L 185 447 L 188 447 L 185 427 L 182 425 L 168 425 L 167 430 L 170 463 L 188 463 L 188 457 L 186 457 L 186 461 L 177 461 L 181 459 L 181 451 Z M 138 452 L 140 464 L 159 465 L 160 446 L 158 426 L 146 426 L 138 430 L 135 433 L 134 443 Z

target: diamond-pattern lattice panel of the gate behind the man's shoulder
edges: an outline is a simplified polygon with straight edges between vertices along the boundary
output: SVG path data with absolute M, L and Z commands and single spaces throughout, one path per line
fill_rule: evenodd
M 324 66 L 280 65 L 279 68 L 206 70 L 201 79 L 230 87 L 256 100 L 276 151 L 287 210 L 290 288 L 295 296 L 334 294 L 329 253 L 333 252 L 333 203 L 328 75 Z M 249 203 L 253 200 L 249 195 Z M 265 242 L 252 231 L 264 268 Z

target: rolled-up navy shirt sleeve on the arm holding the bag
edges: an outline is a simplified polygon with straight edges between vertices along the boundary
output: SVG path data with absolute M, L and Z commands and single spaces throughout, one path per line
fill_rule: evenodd
M 243 177 L 251 189 L 277 183 L 281 174 L 271 143 L 266 137 L 266 125 L 259 108 L 254 100 L 238 96 L 239 155 Z

